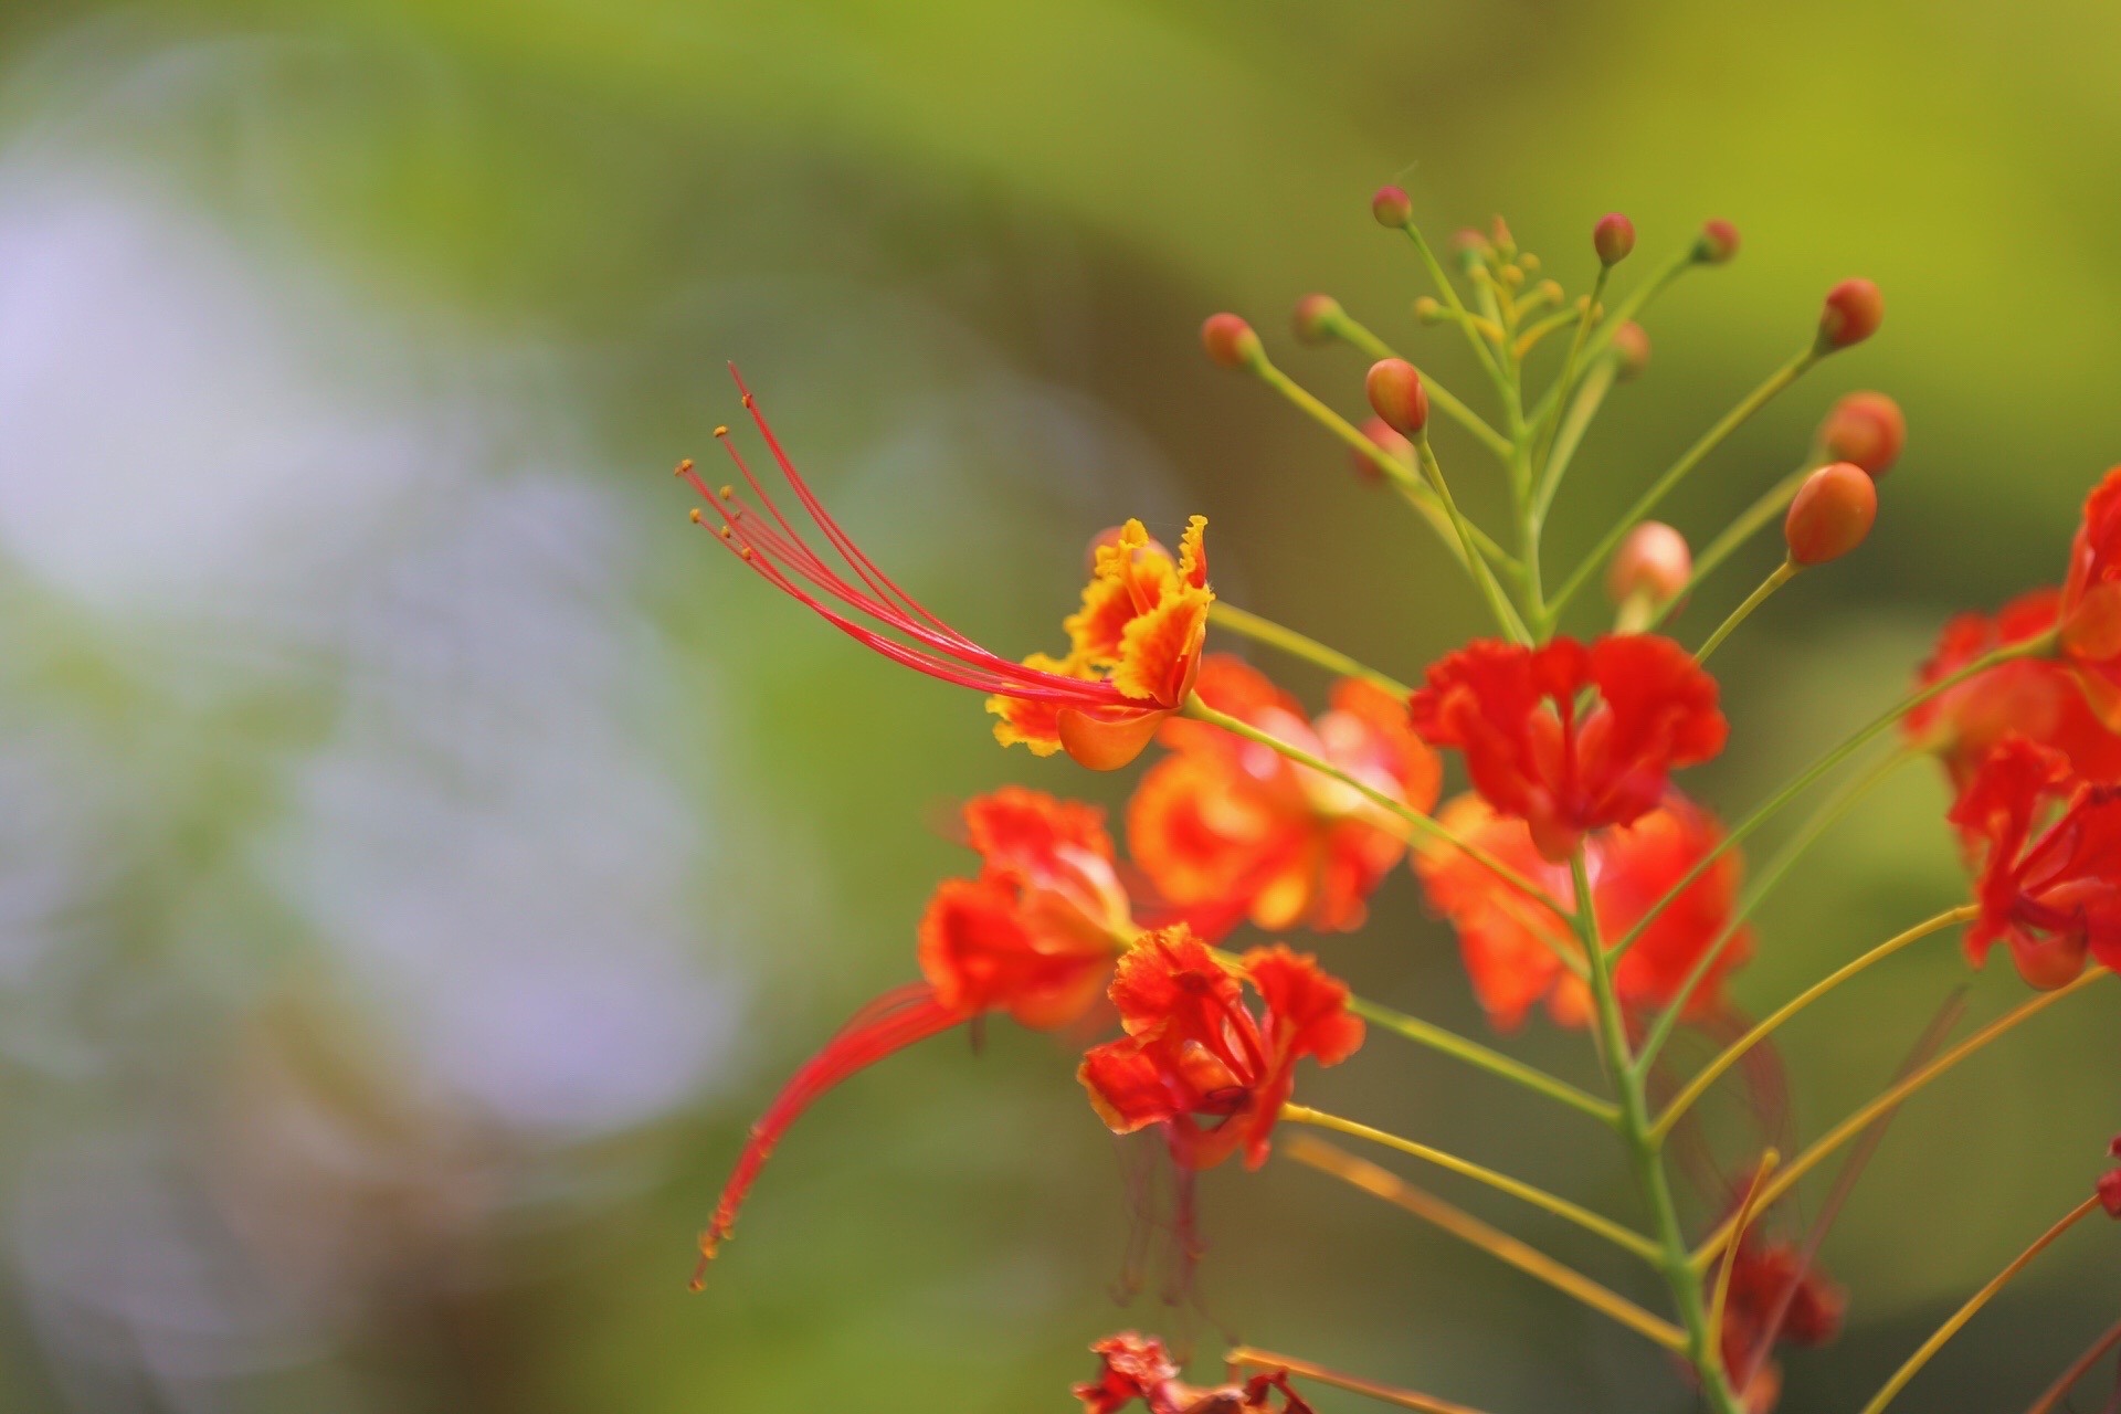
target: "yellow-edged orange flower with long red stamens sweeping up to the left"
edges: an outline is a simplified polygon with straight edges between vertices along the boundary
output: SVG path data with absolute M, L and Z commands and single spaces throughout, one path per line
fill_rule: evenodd
M 764 515 L 734 485 L 708 490 L 689 460 L 679 462 L 679 475 L 706 500 L 706 509 L 694 509 L 694 522 L 713 519 L 721 543 L 759 579 L 895 664 L 991 693 L 988 708 L 1003 717 L 997 727 L 1003 744 L 1027 742 L 1041 755 L 1065 746 L 1084 765 L 1114 770 L 1133 761 L 1156 723 L 1184 706 L 1213 598 L 1200 547 L 1205 519 L 1192 519 L 1175 564 L 1128 522 L 1133 538 L 1109 547 L 1109 560 L 1101 551 L 1082 613 L 1067 621 L 1069 655 L 1033 653 L 1018 664 L 952 630 L 876 568 L 795 471 L 740 377 L 736 386 L 802 515 L 831 547 L 821 553 L 795 530 L 734 445 L 730 460 Z M 715 428 L 723 445 L 725 432 Z

